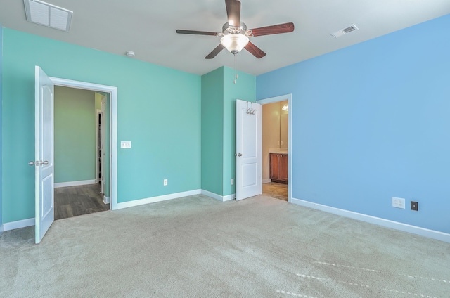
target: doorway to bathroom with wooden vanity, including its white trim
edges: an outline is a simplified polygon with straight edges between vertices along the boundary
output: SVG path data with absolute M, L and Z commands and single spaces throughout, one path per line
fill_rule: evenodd
M 292 94 L 262 104 L 262 194 L 290 202 L 292 189 Z

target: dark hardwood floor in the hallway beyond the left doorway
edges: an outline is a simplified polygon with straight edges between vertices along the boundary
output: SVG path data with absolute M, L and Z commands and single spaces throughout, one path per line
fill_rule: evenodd
M 100 184 L 55 188 L 55 220 L 110 209 L 103 202 Z

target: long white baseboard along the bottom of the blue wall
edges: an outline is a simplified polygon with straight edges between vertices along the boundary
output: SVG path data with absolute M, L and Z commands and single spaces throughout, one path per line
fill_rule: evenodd
M 439 232 L 439 231 L 434 231 L 434 230 L 429 230 L 428 228 L 420 228 L 419 226 L 411 226 L 409 224 L 403 224 L 398 221 L 390 221 L 389 219 L 382 219 L 380 217 L 361 214 L 361 213 L 352 212 L 352 211 L 348 211 L 348 210 L 344 210 L 344 209 L 338 209 L 338 208 L 330 207 L 330 206 L 326 206 L 326 205 L 316 204 L 313 202 L 295 199 L 294 197 L 290 200 L 290 202 L 292 202 L 293 204 L 302 205 L 304 207 L 309 207 L 309 208 L 318 209 L 318 210 L 321 210 L 324 212 L 349 217 L 350 219 L 357 219 L 359 221 L 365 221 L 367 223 L 376 224 L 378 226 L 385 226 L 387 228 L 394 228 L 395 230 L 413 233 L 413 234 L 424 236 L 427 238 L 441 240 L 444 242 L 450 242 L 450 234 Z

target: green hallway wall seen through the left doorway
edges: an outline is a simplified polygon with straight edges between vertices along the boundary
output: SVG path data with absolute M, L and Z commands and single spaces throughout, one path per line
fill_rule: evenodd
M 55 183 L 96 179 L 95 92 L 55 86 Z

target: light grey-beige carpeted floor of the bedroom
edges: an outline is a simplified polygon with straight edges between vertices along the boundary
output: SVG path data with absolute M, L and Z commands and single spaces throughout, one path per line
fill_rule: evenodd
M 259 195 L 0 237 L 0 297 L 449 297 L 450 244 Z

